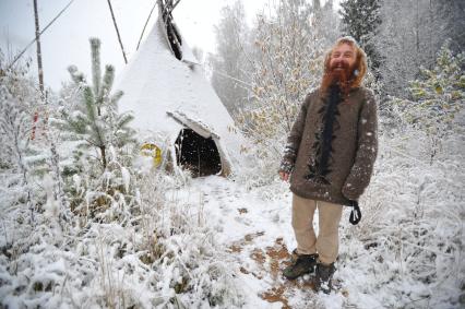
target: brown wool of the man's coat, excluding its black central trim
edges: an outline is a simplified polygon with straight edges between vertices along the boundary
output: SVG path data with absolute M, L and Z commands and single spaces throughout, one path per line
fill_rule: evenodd
M 331 146 L 329 183 L 308 179 L 314 164 L 315 132 L 322 128 L 324 100 L 319 90 L 307 95 L 287 139 L 281 170 L 291 173 L 290 190 L 306 199 L 348 204 L 357 201 L 370 182 L 378 153 L 378 117 L 374 96 L 365 87 L 353 88 L 338 114 Z

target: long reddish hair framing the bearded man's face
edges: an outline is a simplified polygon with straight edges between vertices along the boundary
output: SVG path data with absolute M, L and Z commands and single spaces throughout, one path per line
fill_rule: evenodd
M 331 56 L 334 49 L 342 44 L 347 44 L 355 50 L 354 76 L 348 81 L 348 87 L 358 87 L 361 85 L 365 74 L 367 73 L 367 55 L 365 54 L 363 49 L 358 46 L 357 41 L 350 36 L 338 38 L 333 47 L 331 47 L 331 49 L 326 52 L 326 56 L 324 57 L 324 74 L 330 72 Z

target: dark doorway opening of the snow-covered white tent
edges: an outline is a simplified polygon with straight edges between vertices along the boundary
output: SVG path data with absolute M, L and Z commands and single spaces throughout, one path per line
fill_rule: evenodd
M 192 129 L 182 129 L 175 147 L 178 165 L 189 169 L 193 177 L 222 171 L 219 152 L 212 138 L 205 139 Z

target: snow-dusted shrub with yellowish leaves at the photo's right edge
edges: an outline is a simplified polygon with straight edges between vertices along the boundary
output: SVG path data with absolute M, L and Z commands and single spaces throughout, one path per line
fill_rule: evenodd
M 410 83 L 412 99 L 391 102 L 398 106 L 405 124 L 426 134 L 431 163 L 444 140 L 464 133 L 463 123 L 456 121 L 465 99 L 464 64 L 465 54 L 453 55 L 445 43 L 433 69 L 422 69 L 421 76 Z

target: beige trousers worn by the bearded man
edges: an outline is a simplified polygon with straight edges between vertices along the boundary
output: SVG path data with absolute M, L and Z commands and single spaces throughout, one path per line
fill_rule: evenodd
M 319 234 L 313 229 L 313 215 L 318 209 Z M 339 222 L 343 206 L 293 194 L 293 227 L 299 254 L 319 254 L 324 264 L 336 261 L 339 247 Z

